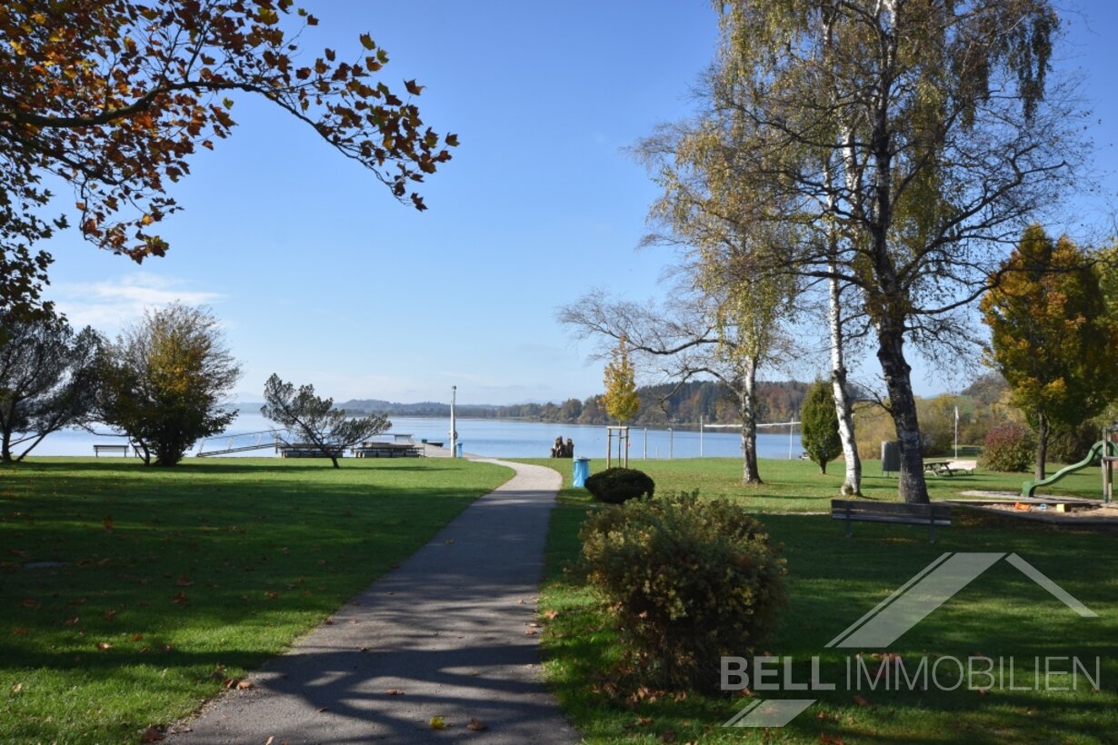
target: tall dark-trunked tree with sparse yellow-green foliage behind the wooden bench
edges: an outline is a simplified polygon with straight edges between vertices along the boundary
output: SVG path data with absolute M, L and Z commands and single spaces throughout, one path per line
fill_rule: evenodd
M 1074 175 L 1077 112 L 1049 79 L 1059 20 L 1046 0 L 717 6 L 710 106 L 749 123 L 733 162 L 751 194 L 742 219 L 835 231 L 754 243 L 755 262 L 858 294 L 900 443 L 900 494 L 927 502 L 906 346 L 969 352 L 961 309 Z

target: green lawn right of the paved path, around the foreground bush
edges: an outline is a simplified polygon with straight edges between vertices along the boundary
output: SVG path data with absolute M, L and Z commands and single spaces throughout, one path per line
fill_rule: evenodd
M 830 515 L 827 500 L 841 483 L 835 474 L 821 477 L 800 461 L 761 461 L 770 484 L 743 487 L 740 462 L 707 459 L 635 461 L 656 479 L 657 491 L 699 488 L 707 496 L 727 496 L 758 513 L 788 560 L 790 606 L 776 638 L 761 652 L 792 657 L 794 680 L 808 678 L 807 660 L 822 658 L 824 681 L 837 682 L 833 693 L 802 697 L 821 699 L 779 729 L 722 728 L 721 723 L 746 706 L 749 698 L 705 698 L 689 695 L 676 700 L 672 691 L 652 691 L 627 700 L 627 686 L 615 675 L 616 632 L 601 612 L 577 567 L 577 532 L 587 509 L 585 490 L 570 489 L 570 464 L 556 466 L 565 476 L 560 505 L 553 514 L 548 543 L 548 570 L 541 594 L 547 622 L 543 634 L 546 669 L 556 695 L 589 742 L 812 742 L 812 743 L 1105 743 L 1118 733 L 1118 579 L 1115 576 L 1114 533 L 1071 532 L 1036 524 L 978 517 L 957 508 L 951 528 L 930 544 L 916 526 L 855 524 L 854 537 L 843 537 Z M 604 468 L 595 461 L 593 469 Z M 878 464 L 868 465 L 873 474 Z M 816 469 L 817 471 L 817 469 Z M 1017 490 L 1024 475 L 984 475 L 936 478 L 934 498 L 961 489 Z M 1068 479 L 1065 494 L 1097 496 L 1100 477 L 1091 469 Z M 890 481 L 892 484 L 890 488 Z M 1062 486 L 1062 485 L 1061 485 Z M 866 496 L 896 498 L 896 480 L 870 476 Z M 800 513 L 800 514 L 797 514 Z M 825 644 L 869 612 L 944 552 L 1017 553 L 1064 590 L 1098 613 L 1082 619 L 1017 570 L 996 564 L 938 609 L 888 650 L 828 650 Z M 874 653 L 897 653 L 918 660 L 938 656 L 1010 658 L 1016 660 L 1014 685 L 1033 686 L 1033 660 L 1077 656 L 1095 674 L 1099 660 L 1100 688 L 1091 690 L 1079 677 L 1079 690 L 1008 690 L 1007 684 L 988 693 L 851 691 L 845 686 L 846 660 L 862 651 L 871 672 Z M 746 653 L 746 650 L 742 650 Z M 1021 672 L 1027 665 L 1030 671 Z M 856 659 L 852 661 L 856 670 Z M 1054 661 L 1053 669 L 1069 666 Z M 947 666 L 944 670 L 950 670 Z M 949 677 L 946 672 L 945 680 Z M 957 674 L 955 675 L 957 677 Z M 984 679 L 977 678 L 980 684 Z M 1003 677 L 1003 681 L 1005 678 Z M 1070 678 L 1055 678 L 1053 684 Z M 613 694 L 614 688 L 620 690 Z M 966 685 L 964 686 L 964 688 Z M 978 686 L 980 687 L 980 685 Z M 1040 688 L 1044 688 L 1043 682 Z M 794 694 L 766 694 L 790 698 Z M 855 699 L 859 696 L 861 700 Z M 641 700 L 638 700 L 638 698 Z

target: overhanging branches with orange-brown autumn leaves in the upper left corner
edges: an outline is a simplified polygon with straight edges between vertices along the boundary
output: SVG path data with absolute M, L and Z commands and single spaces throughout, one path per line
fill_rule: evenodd
M 368 34 L 342 58 L 300 46 L 318 19 L 292 0 L 20 0 L 0 3 L 0 311 L 39 304 L 51 257 L 37 241 L 66 228 L 45 214 L 53 175 L 94 245 L 135 261 L 162 256 L 154 226 L 179 209 L 171 184 L 198 147 L 234 127 L 238 93 L 305 122 L 343 156 L 409 191 L 451 159 L 453 134 L 426 127 L 411 99 L 375 79 L 388 54 Z

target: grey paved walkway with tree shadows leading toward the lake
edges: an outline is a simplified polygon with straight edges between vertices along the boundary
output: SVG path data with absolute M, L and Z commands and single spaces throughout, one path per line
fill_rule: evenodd
M 510 481 L 467 507 L 399 569 L 250 676 L 181 743 L 575 743 L 540 682 L 536 595 L 549 468 L 499 462 Z M 387 691 L 400 691 L 389 694 Z M 443 717 L 446 729 L 429 726 Z M 466 728 L 475 717 L 489 728 Z M 274 739 L 269 741 L 272 737 Z

